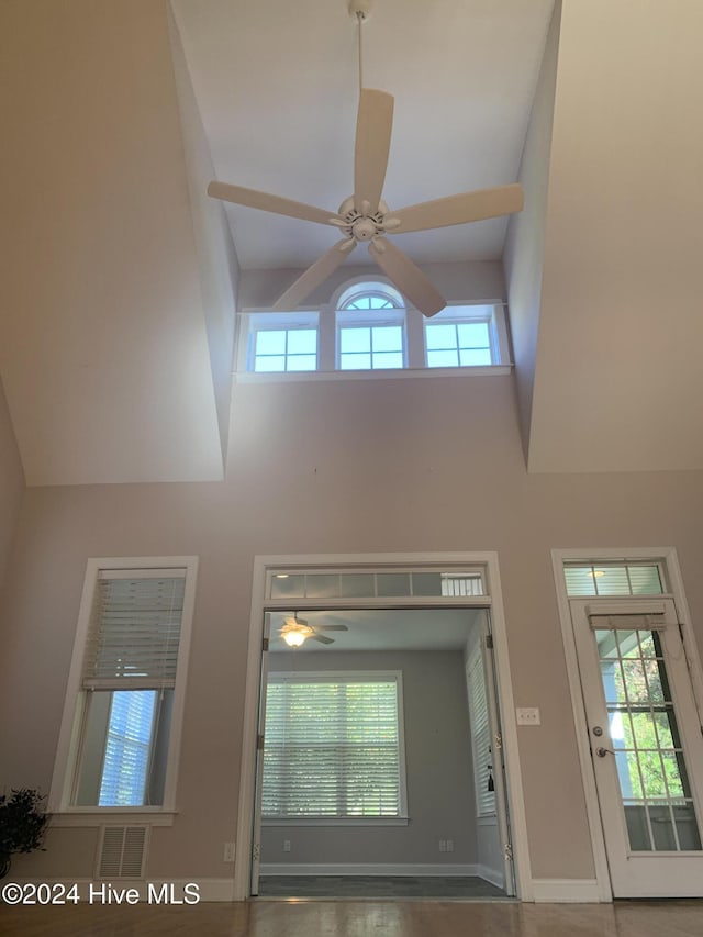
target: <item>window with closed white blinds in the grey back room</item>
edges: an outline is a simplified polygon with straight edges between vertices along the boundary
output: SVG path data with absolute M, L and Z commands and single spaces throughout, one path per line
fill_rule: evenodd
M 271 673 L 263 816 L 404 817 L 400 672 Z

